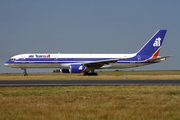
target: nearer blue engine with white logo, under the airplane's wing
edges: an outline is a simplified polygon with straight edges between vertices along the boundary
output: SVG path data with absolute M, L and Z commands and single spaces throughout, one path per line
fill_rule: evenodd
M 72 65 L 70 65 L 69 72 L 71 72 L 71 73 L 85 73 L 85 72 L 88 72 L 88 68 L 85 65 L 72 64 Z

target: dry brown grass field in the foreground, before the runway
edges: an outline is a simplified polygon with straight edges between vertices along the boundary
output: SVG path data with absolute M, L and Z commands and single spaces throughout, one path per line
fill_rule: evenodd
M 1 120 L 178 120 L 180 86 L 1 87 Z

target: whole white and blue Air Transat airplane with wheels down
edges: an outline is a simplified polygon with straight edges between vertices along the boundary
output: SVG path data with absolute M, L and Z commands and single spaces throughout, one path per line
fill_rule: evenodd
M 158 30 L 150 40 L 133 54 L 50 54 L 28 53 L 11 57 L 6 67 L 21 68 L 28 76 L 27 68 L 59 68 L 62 73 L 84 73 L 97 76 L 95 69 L 125 69 L 150 65 L 172 56 L 158 56 L 167 30 Z

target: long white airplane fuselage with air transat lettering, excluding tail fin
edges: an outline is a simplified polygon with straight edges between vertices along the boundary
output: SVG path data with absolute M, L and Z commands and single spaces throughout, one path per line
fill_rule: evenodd
M 49 56 L 48 56 L 49 55 Z M 48 56 L 48 57 L 47 57 Z M 148 65 L 140 62 L 139 58 L 128 60 L 136 56 L 134 54 L 19 54 L 11 57 L 14 64 L 8 64 L 11 68 L 61 68 L 61 64 L 84 63 L 107 59 L 119 59 L 116 63 L 110 63 L 96 69 L 123 69 Z

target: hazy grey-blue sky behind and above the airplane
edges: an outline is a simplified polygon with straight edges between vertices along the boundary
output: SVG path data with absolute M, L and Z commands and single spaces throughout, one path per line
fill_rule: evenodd
M 135 70 L 179 70 L 179 0 L 0 0 L 0 73 L 21 53 L 135 53 L 167 29 L 166 61 Z M 52 72 L 53 69 L 27 69 Z

